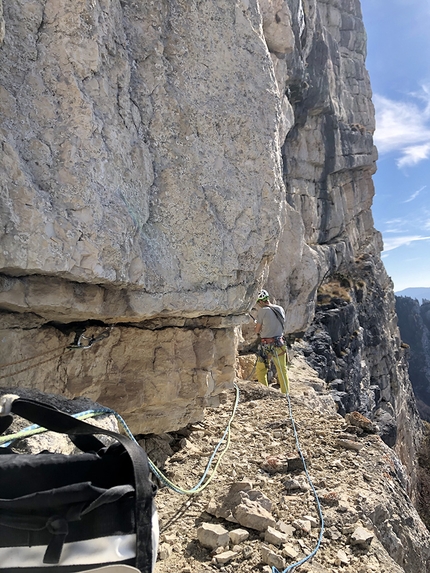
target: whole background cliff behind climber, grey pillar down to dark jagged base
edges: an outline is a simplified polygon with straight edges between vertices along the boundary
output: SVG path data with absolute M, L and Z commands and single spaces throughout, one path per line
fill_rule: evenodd
M 288 13 L 282 2 L 260 4 L 285 94 L 283 179 L 293 207 L 268 289 L 288 309 L 287 331 L 306 331 L 297 349 L 331 385 L 340 411 L 375 419 L 408 467 L 413 492 L 421 422 L 371 214 L 374 109 L 360 3 L 288 2 Z M 293 41 L 281 33 L 287 25 Z

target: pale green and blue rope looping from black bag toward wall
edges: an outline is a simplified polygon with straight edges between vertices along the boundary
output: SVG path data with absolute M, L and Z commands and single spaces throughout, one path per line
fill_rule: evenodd
M 226 429 L 220 439 L 220 441 L 218 442 L 217 446 L 214 449 L 214 452 L 212 453 L 206 468 L 203 472 L 202 477 L 200 478 L 199 482 L 197 483 L 197 485 L 195 485 L 193 488 L 191 489 L 183 489 L 177 485 L 175 485 L 173 482 L 171 482 L 156 466 L 155 464 L 148 458 L 148 463 L 149 463 L 149 467 L 151 468 L 151 471 L 153 472 L 153 474 L 162 482 L 164 483 L 168 488 L 172 489 L 173 491 L 175 491 L 176 493 L 180 493 L 180 494 L 184 494 L 184 495 L 194 495 L 196 493 L 200 493 L 201 491 L 203 491 L 208 485 L 209 483 L 212 481 L 212 479 L 215 477 L 215 474 L 217 472 L 218 466 L 221 463 L 222 458 L 224 457 L 224 455 L 226 454 L 229 446 L 230 446 L 230 427 L 231 427 L 231 423 L 233 422 L 233 419 L 236 415 L 236 410 L 239 404 L 239 397 L 240 397 L 240 391 L 239 391 L 239 387 L 237 386 L 237 384 L 234 384 L 234 388 L 236 390 L 236 398 L 235 398 L 235 402 L 234 402 L 234 406 L 233 406 L 233 410 L 232 410 L 232 414 L 229 418 L 229 421 L 227 423 Z M 78 418 L 80 420 L 84 420 L 86 418 L 91 418 L 91 417 L 95 417 L 95 416 L 100 416 L 103 414 L 111 414 L 113 416 L 115 416 L 115 418 L 118 420 L 118 422 L 120 423 L 120 425 L 122 426 L 122 428 L 124 429 L 125 433 L 127 434 L 127 436 L 134 442 L 136 442 L 138 445 L 139 443 L 137 442 L 137 440 L 135 439 L 135 437 L 133 436 L 133 434 L 131 433 L 129 427 L 127 426 L 127 424 L 125 423 L 124 419 L 122 418 L 122 416 L 120 414 L 118 414 L 117 412 L 115 412 L 114 410 L 111 410 L 110 408 L 99 408 L 97 410 L 86 410 L 85 412 L 80 412 L 79 414 L 72 414 L 73 417 Z M 23 438 L 28 438 L 30 436 L 34 436 L 36 434 L 41 434 L 43 432 L 46 432 L 46 428 L 42 428 L 41 426 L 38 426 L 37 424 L 33 424 L 32 426 L 28 426 L 27 428 L 24 428 L 22 430 L 20 430 L 19 432 L 16 432 L 15 434 L 11 434 L 8 436 L 0 436 L 0 447 L 9 447 L 11 444 L 13 444 L 13 442 L 15 442 L 16 440 L 21 440 Z M 225 447 L 224 449 L 220 452 L 219 458 L 214 466 L 214 469 L 212 471 L 212 473 L 210 474 L 210 476 L 206 479 L 206 476 L 209 473 L 209 470 L 212 466 L 212 463 L 214 461 L 215 456 L 218 453 L 218 450 L 220 449 L 220 447 L 223 445 L 223 443 L 225 443 Z M 139 445 L 140 447 L 140 445 Z M 206 480 L 206 481 L 205 481 Z

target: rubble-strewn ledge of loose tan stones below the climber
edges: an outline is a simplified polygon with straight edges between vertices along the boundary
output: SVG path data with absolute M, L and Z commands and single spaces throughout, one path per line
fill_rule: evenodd
M 325 532 L 316 556 L 298 571 L 410 570 L 398 563 L 413 564 L 415 560 L 418 564 L 425 559 L 419 552 L 429 537 L 401 479 L 389 472 L 392 451 L 377 435 L 346 433 L 351 421 L 336 413 L 327 396 L 319 400 L 300 374 L 291 375 L 291 403 Z M 272 566 L 282 571 L 316 547 L 320 517 L 297 452 L 287 400 L 277 388 L 251 381 L 239 381 L 238 385 L 241 400 L 231 425 L 231 445 L 215 479 L 191 497 L 164 486 L 159 489 L 161 550 L 155 573 L 269 573 Z M 202 422 L 188 428 L 184 447 L 171 455 L 164 467 L 175 484 L 188 489 L 197 483 L 225 430 L 234 397 L 234 390 L 227 391 L 219 408 L 208 409 Z M 381 506 L 386 511 L 384 527 L 377 517 Z M 393 514 L 393 519 L 409 517 L 415 524 L 419 522 L 414 530 L 416 539 L 410 539 L 409 545 L 401 535 L 397 537 L 398 563 L 386 549 L 394 542 L 394 530 L 387 525 Z

